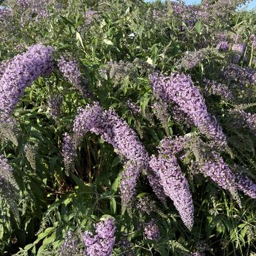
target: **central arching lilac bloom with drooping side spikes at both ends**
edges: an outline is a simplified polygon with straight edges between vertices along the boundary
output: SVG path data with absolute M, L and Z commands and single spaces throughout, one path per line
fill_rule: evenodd
M 67 167 L 73 162 L 75 148 L 79 145 L 83 136 L 86 135 L 86 132 L 101 135 L 103 140 L 116 149 L 117 154 L 132 162 L 131 166 L 124 171 L 124 175 L 121 176 L 123 178 L 121 185 L 127 189 L 127 193 L 121 192 L 125 205 L 129 204 L 127 200 L 131 199 L 130 195 L 135 194 L 138 172 L 140 173 L 142 169 L 148 170 L 148 181 L 157 196 L 162 198 L 162 187 L 148 166 L 149 156 L 143 144 L 140 143 L 138 135 L 114 110 L 104 111 L 98 102 L 94 102 L 93 105 L 86 105 L 86 108 L 80 108 L 74 120 L 73 135 L 65 135 L 64 137 L 62 156 Z M 131 184 L 133 187 L 130 186 Z

